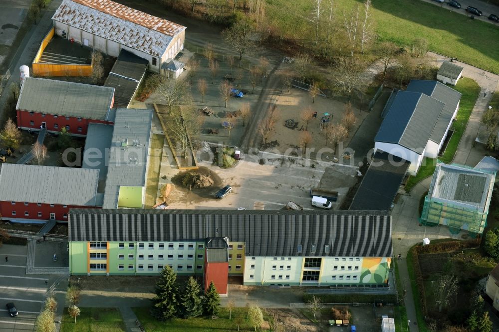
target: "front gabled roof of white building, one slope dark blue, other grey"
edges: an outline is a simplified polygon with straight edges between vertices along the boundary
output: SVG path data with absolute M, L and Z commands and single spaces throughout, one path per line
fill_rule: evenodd
M 444 103 L 422 93 L 399 91 L 374 138 L 422 154 Z

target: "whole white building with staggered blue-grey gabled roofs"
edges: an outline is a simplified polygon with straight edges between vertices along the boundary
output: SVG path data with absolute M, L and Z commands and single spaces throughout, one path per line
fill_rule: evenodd
M 424 157 L 437 158 L 456 118 L 461 93 L 437 81 L 411 80 L 397 91 L 374 138 L 375 150 L 411 162 L 415 175 Z

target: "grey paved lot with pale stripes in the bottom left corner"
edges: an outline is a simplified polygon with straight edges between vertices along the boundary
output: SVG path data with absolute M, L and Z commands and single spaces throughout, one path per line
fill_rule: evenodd
M 45 301 L 49 277 L 26 275 L 27 246 L 4 244 L 0 247 L 0 257 L 0 332 L 33 331 Z M 5 305 L 9 302 L 14 303 L 17 317 L 8 315 Z

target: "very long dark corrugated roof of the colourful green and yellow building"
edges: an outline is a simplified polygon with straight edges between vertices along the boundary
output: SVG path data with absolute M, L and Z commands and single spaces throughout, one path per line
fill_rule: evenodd
M 391 216 L 382 211 L 72 209 L 69 213 L 69 241 L 205 241 L 226 236 L 245 242 L 246 255 L 254 256 L 392 256 Z M 299 244 L 302 252 L 297 250 Z

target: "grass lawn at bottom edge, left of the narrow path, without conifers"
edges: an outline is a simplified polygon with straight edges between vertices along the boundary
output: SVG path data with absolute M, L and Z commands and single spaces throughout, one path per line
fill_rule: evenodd
M 80 308 L 81 314 L 74 319 L 64 308 L 61 332 L 121 332 L 126 331 L 118 308 Z

